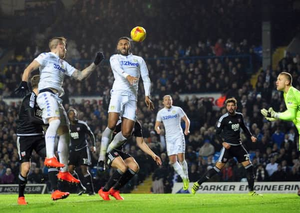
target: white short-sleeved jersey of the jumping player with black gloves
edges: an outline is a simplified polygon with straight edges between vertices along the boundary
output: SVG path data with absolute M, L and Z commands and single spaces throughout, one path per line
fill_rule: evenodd
M 75 68 L 53 52 L 41 53 L 34 60 L 40 64 L 38 90 L 54 88 L 59 92 L 59 96 L 62 96 L 64 94 L 63 77 L 64 75 L 71 76 Z

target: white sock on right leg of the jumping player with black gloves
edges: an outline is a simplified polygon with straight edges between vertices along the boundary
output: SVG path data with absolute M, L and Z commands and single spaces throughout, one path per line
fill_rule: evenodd
M 61 164 L 64 164 L 64 167 L 60 168 L 61 172 L 67 172 L 69 158 L 69 142 L 69 133 L 65 133 L 59 136 L 57 153 L 59 157 L 59 162 Z

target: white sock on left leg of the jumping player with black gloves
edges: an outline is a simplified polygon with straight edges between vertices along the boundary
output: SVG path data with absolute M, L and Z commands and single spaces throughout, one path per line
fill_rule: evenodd
M 49 123 L 49 127 L 45 134 L 45 143 L 46 143 L 46 157 L 52 158 L 54 156 L 54 146 L 55 146 L 55 138 L 56 132 L 60 125 L 60 120 L 56 119 Z

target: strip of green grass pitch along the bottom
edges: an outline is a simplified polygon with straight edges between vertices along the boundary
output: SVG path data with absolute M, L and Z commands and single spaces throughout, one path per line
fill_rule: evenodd
M 103 201 L 98 195 L 51 201 L 50 195 L 0 195 L 0 213 L 300 213 L 296 194 L 123 194 L 124 201 Z

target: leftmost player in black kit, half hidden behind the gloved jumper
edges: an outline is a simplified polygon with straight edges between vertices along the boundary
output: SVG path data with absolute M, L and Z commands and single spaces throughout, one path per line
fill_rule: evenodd
M 24 190 L 27 183 L 27 175 L 30 171 L 30 159 L 32 150 L 34 150 L 40 157 L 45 158 L 45 137 L 42 125 L 44 125 L 41 118 L 41 110 L 36 103 L 36 95 L 38 93 L 37 84 L 39 82 L 39 75 L 34 75 L 31 80 L 32 92 L 24 97 L 18 114 L 17 123 L 17 150 L 20 160 L 20 174 L 18 176 L 19 195 L 18 205 L 27 205 L 24 196 Z M 56 168 L 49 168 L 48 175 L 51 182 L 52 200 L 64 199 L 69 196 L 68 192 L 60 192 L 57 186 L 57 172 Z

